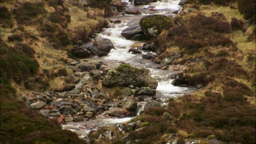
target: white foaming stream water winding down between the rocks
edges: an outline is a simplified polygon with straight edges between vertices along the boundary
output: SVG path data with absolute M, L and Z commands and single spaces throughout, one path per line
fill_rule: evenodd
M 142 12 L 140 15 L 120 15 L 120 16 L 113 16 L 109 18 L 110 20 L 121 20 L 121 23 L 114 24 L 110 23 L 109 28 L 104 28 L 104 32 L 98 34 L 100 38 L 107 38 L 112 41 L 116 49 L 112 49 L 108 56 L 104 57 L 91 57 L 92 60 L 100 60 L 108 66 L 112 68 L 116 68 L 119 66 L 122 62 L 125 62 L 127 64 L 130 64 L 136 68 L 148 68 L 150 70 L 150 75 L 153 78 L 156 78 L 158 80 L 158 87 L 156 89 L 156 98 L 160 99 L 162 101 L 162 106 L 167 105 L 167 101 L 169 98 L 172 97 L 179 97 L 183 94 L 188 94 L 196 90 L 196 88 L 193 87 L 178 87 L 173 86 L 171 83 L 173 79 L 171 79 L 171 76 L 176 71 L 172 70 L 161 70 L 156 69 L 157 66 L 160 64 L 156 64 L 152 62 L 151 60 L 142 59 L 142 54 L 146 54 L 147 52 L 142 52 L 142 54 L 132 54 L 132 52 L 128 52 L 128 50 L 131 48 L 131 45 L 136 43 L 137 41 L 132 40 L 126 40 L 121 35 L 122 30 L 128 28 L 129 26 L 133 26 L 134 24 L 139 24 L 140 19 L 143 16 L 153 15 L 153 14 L 164 14 L 169 17 L 173 17 L 176 14 L 173 14 L 174 11 L 179 10 L 180 6 L 178 3 L 180 0 L 161 0 L 158 2 L 151 3 L 150 5 L 145 6 L 134 6 L 132 2 L 128 2 L 128 0 L 124 0 L 123 2 L 127 2 L 128 5 L 126 5 L 126 10 L 138 10 Z M 150 8 L 148 6 L 155 6 L 156 11 L 150 11 Z M 140 41 L 140 43 L 143 45 L 145 42 L 150 41 Z M 156 54 L 156 53 L 154 53 Z M 177 72 L 176 72 L 177 73 Z M 148 98 L 149 100 L 151 98 Z M 144 102 L 140 102 L 138 104 L 137 108 L 137 115 L 140 114 L 140 111 L 142 111 L 144 108 Z M 99 115 L 98 119 L 96 120 L 90 120 L 86 122 L 72 122 L 65 125 L 62 125 L 63 129 L 68 129 L 73 132 L 76 132 L 79 136 L 79 138 L 84 138 L 86 135 L 90 132 L 90 130 L 82 130 L 79 128 L 79 126 L 84 126 L 85 124 L 94 126 L 97 129 L 98 126 L 114 126 L 116 123 L 124 123 L 131 119 L 129 118 L 106 118 L 103 115 Z M 94 130 L 95 130 L 94 129 Z

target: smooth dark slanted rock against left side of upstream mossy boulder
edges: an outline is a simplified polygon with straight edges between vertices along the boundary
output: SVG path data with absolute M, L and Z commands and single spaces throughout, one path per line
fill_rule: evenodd
M 144 34 L 140 28 L 140 25 L 134 25 L 134 26 L 130 26 L 129 28 L 124 29 L 121 32 L 122 36 L 124 36 L 126 39 L 130 40 L 130 38 L 132 38 L 132 36 L 136 35 L 136 34 Z

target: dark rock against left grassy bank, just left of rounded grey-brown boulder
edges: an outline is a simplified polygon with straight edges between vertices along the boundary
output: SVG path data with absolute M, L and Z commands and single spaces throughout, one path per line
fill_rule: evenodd
M 91 56 L 91 52 L 86 49 L 85 46 L 74 46 L 71 49 L 72 56 L 76 56 L 79 58 L 86 58 L 88 56 Z

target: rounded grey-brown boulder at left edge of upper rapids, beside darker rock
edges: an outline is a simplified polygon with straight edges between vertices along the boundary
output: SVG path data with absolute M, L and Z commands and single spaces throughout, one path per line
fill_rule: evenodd
M 95 42 L 93 43 L 93 46 L 97 46 L 99 50 L 107 53 L 109 53 L 110 50 L 114 48 L 114 45 L 112 44 L 111 40 L 105 39 L 105 38 L 100 38 L 95 40 Z

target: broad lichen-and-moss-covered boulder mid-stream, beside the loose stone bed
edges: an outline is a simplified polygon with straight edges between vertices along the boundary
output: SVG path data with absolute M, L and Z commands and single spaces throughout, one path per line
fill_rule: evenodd
M 128 64 L 120 64 L 115 69 L 109 70 L 102 84 L 105 86 L 129 86 L 141 84 L 150 70 L 134 68 Z

